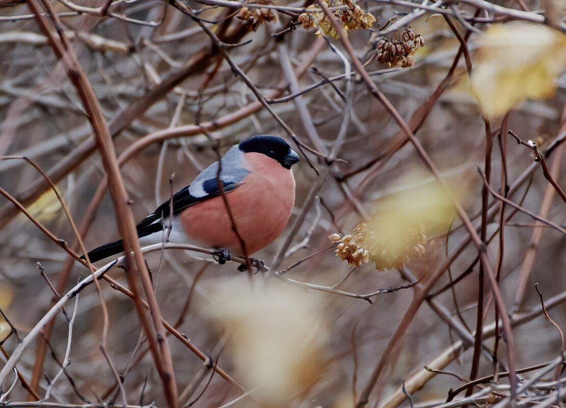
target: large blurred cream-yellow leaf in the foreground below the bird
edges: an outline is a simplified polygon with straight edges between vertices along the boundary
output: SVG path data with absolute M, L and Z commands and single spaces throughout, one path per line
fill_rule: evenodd
M 230 357 L 255 400 L 285 405 L 318 381 L 328 331 L 317 294 L 247 276 L 210 290 L 205 312 L 228 337 Z

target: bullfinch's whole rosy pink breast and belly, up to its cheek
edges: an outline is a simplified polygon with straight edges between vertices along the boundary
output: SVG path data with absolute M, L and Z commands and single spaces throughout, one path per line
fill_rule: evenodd
M 238 188 L 226 193 L 238 233 L 248 255 L 271 244 L 289 221 L 295 205 L 293 173 L 260 153 L 246 153 L 251 171 Z M 185 233 L 203 244 L 241 254 L 238 238 L 222 197 L 188 207 L 181 213 Z

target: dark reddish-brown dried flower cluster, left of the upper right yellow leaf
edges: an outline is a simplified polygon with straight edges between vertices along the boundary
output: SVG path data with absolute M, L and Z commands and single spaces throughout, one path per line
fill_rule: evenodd
M 407 25 L 404 32 L 397 32 L 394 37 L 391 41 L 384 38 L 378 42 L 378 62 L 389 67 L 412 67 L 415 64 L 415 51 L 424 47 L 422 34 L 415 34 Z

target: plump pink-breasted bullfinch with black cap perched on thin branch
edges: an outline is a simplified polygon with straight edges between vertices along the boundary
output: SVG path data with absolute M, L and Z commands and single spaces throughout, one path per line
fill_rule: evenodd
M 213 248 L 218 263 L 229 261 L 233 254 L 244 255 L 225 198 L 247 255 L 256 253 L 275 241 L 289 221 L 295 205 L 291 166 L 299 160 L 299 155 L 281 137 L 258 134 L 242 140 L 136 225 L 140 244 L 162 242 L 164 230 L 170 226 L 169 242 Z M 97 262 L 122 252 L 122 240 L 112 241 L 89 251 L 88 259 Z M 263 262 L 250 259 L 263 266 Z

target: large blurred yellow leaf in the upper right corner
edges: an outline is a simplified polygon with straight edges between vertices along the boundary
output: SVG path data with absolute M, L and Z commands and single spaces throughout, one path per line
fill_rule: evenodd
M 497 118 L 525 99 L 548 98 L 566 68 L 566 35 L 541 24 L 494 24 L 478 38 L 471 88 L 483 114 Z

